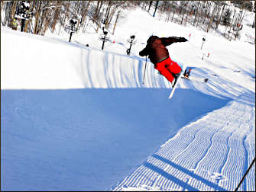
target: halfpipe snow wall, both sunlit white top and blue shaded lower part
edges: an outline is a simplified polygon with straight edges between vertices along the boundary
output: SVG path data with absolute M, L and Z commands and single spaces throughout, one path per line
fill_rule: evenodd
M 141 88 L 136 57 L 6 29 L 1 40 L 3 190 L 109 190 L 228 102 L 187 89 L 169 101 L 149 63 Z

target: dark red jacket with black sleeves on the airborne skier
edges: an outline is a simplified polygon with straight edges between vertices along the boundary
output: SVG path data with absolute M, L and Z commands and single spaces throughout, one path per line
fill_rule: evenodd
M 186 39 L 183 37 L 163 37 L 151 36 L 147 40 L 147 46 L 141 50 L 140 56 L 148 56 L 151 62 L 157 64 L 157 62 L 164 61 L 169 57 L 169 52 L 166 46 L 172 43 L 185 42 Z

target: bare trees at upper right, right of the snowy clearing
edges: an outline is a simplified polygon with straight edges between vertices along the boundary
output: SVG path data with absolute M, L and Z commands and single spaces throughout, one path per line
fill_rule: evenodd
M 223 36 L 228 40 L 236 39 L 238 31 L 242 28 L 242 21 L 247 11 L 254 12 L 255 27 L 255 1 L 143 1 L 142 8 L 155 17 L 166 22 L 175 22 L 186 25 L 190 23 L 206 32 L 218 30 L 219 25 L 225 26 Z

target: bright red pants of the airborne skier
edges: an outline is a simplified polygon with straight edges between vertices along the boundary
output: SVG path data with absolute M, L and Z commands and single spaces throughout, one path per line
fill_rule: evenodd
M 155 64 L 154 69 L 157 69 L 161 75 L 164 75 L 169 82 L 173 82 L 172 73 L 177 74 L 181 72 L 181 68 L 178 63 L 171 60 L 170 56 L 168 59 Z

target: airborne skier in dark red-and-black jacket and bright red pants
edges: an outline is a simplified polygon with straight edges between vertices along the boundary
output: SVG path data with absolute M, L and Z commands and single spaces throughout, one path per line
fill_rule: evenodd
M 177 81 L 177 77 L 181 74 L 181 68 L 170 59 L 169 52 L 166 46 L 172 43 L 186 42 L 184 37 L 162 37 L 151 36 L 147 40 L 146 47 L 140 51 L 140 56 L 148 56 L 152 63 L 154 63 L 154 69 L 157 69 L 161 75 L 174 86 Z M 174 78 L 174 82 L 173 82 Z

